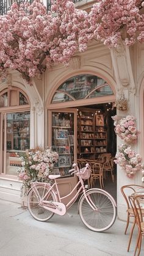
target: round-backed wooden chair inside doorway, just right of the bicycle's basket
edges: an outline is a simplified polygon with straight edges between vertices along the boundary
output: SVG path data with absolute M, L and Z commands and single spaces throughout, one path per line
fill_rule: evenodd
M 100 163 L 94 163 L 93 164 L 93 169 L 92 169 L 92 174 L 90 176 L 90 188 L 95 185 L 95 181 L 99 180 L 101 189 L 104 187 L 103 183 L 103 167 L 101 166 Z

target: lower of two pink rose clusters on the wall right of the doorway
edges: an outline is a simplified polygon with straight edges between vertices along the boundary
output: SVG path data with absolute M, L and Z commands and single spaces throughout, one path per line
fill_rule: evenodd
M 122 167 L 128 178 L 134 177 L 137 171 L 142 170 L 142 157 L 128 145 L 121 144 L 115 158 L 115 164 Z

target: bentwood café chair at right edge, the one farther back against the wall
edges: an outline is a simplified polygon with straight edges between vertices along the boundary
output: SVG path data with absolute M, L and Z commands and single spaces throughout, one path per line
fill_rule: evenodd
M 143 189 L 144 191 L 144 187 L 143 186 L 139 186 L 139 185 L 125 185 L 121 187 L 121 193 L 123 194 L 123 197 L 126 201 L 126 205 L 127 205 L 127 221 L 126 221 L 126 229 L 124 234 L 126 235 L 126 232 L 128 230 L 128 226 L 129 226 L 129 219 L 132 218 L 134 219 L 132 228 L 131 228 L 131 233 L 129 236 L 129 243 L 128 243 L 128 252 L 129 252 L 129 247 L 131 245 L 131 239 L 132 239 L 132 234 L 134 231 L 134 227 L 135 227 L 135 215 L 134 215 L 134 211 L 131 207 L 131 203 L 129 202 L 129 196 L 131 196 L 131 194 L 135 194 L 136 191 L 139 191 L 140 189 Z

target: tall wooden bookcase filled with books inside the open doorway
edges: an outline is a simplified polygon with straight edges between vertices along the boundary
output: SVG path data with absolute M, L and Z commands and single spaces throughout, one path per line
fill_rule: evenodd
M 77 158 L 93 159 L 101 153 L 106 153 L 107 127 L 100 110 L 79 109 L 77 123 Z

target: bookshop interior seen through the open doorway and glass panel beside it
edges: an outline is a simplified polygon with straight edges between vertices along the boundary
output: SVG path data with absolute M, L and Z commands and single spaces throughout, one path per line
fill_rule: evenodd
M 52 148 L 59 153 L 54 174 L 68 177 L 72 164 L 92 169 L 90 188 L 102 188 L 117 199 L 117 174 L 113 162 L 117 139 L 112 115 L 114 103 L 95 104 L 52 112 Z M 77 156 L 77 157 L 76 157 Z

